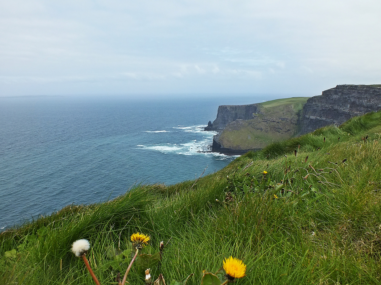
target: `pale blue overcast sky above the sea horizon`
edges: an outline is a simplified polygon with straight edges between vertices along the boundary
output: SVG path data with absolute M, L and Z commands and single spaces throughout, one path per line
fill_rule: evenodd
M 0 0 L 0 96 L 381 84 L 379 0 Z

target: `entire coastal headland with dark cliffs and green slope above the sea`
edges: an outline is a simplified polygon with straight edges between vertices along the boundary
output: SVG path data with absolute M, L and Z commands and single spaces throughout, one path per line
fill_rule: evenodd
M 273 141 L 303 135 L 381 110 L 381 85 L 338 85 L 322 95 L 250 105 L 222 105 L 205 130 L 216 130 L 213 152 L 243 154 Z

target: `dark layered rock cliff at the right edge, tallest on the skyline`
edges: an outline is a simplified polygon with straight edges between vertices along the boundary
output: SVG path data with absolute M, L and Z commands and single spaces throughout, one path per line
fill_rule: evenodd
M 381 109 L 381 86 L 338 85 L 307 100 L 303 106 L 300 134 L 327 125 L 341 125 L 355 116 Z

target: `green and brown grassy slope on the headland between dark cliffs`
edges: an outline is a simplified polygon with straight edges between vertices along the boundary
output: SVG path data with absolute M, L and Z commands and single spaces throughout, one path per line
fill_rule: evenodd
M 308 98 L 293 97 L 261 103 L 258 106 L 260 114 L 256 114 L 255 119 L 227 125 L 219 142 L 232 149 L 262 149 L 272 142 L 289 139 L 295 135 L 298 112 Z

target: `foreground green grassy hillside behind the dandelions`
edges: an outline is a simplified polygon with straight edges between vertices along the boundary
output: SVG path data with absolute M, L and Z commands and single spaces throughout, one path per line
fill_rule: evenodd
M 380 140 L 381 112 L 370 113 L 249 152 L 197 182 L 67 206 L 0 235 L 0 284 L 93 284 L 70 252 L 79 238 L 91 242 L 100 282 L 115 284 L 131 260 L 115 253 L 131 250 L 137 231 L 151 237 L 143 252 L 164 241 L 151 274 L 167 284 L 191 273 L 187 284 L 200 284 L 231 255 L 247 264 L 239 284 L 379 284 Z M 128 281 L 144 284 L 138 263 Z

